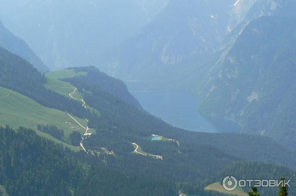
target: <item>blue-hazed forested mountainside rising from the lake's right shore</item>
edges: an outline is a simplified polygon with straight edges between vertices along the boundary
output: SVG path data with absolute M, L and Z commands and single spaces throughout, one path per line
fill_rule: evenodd
M 295 17 L 261 17 L 216 69 L 201 111 L 296 149 Z

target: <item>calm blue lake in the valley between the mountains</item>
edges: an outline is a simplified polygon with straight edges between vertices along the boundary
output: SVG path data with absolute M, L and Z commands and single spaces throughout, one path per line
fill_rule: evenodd
M 165 122 L 189 131 L 225 132 L 238 131 L 239 126 L 230 122 L 212 122 L 203 117 L 198 107 L 200 100 L 190 93 L 180 91 L 131 92 L 143 108 Z

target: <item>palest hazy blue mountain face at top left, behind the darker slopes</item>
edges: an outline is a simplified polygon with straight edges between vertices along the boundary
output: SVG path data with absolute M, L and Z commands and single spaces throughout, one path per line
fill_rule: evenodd
M 0 0 L 0 17 L 51 69 L 98 65 L 147 24 L 135 0 Z M 13 13 L 13 14 L 12 14 Z

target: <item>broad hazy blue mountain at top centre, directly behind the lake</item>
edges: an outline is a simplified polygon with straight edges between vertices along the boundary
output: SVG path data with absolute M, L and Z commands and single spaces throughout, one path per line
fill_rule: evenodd
M 234 2 L 170 0 L 154 20 L 111 54 L 107 68 L 100 68 L 125 80 L 178 81 L 219 49 Z

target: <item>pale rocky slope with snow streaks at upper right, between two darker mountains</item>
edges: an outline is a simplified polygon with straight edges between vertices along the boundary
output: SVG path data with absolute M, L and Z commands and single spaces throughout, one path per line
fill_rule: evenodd
M 216 5 L 219 8 L 219 4 Z M 296 16 L 295 9 L 294 0 L 237 0 L 227 9 L 226 23 L 219 21 L 223 24 L 223 30 L 227 31 L 219 50 L 199 66 L 196 63 L 197 61 L 191 62 L 191 65 L 187 67 L 191 67 L 189 68 L 190 71 L 184 75 L 181 74 L 181 76 L 178 73 L 177 76 L 179 75 L 180 79 L 173 81 L 169 84 L 169 87 L 179 87 L 179 89 L 191 91 L 201 97 L 205 96 L 205 89 L 206 91 L 211 89 L 212 82 L 219 74 L 220 65 L 225 56 L 250 22 L 261 16 Z M 174 75 L 174 78 L 178 77 Z

